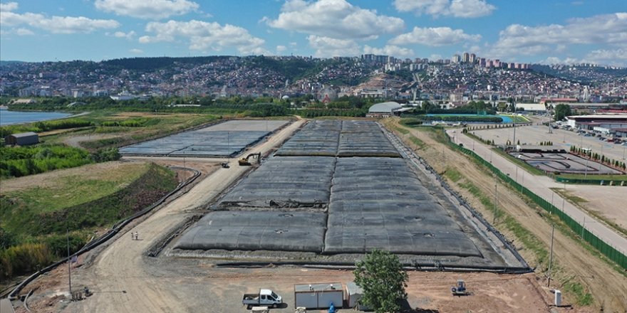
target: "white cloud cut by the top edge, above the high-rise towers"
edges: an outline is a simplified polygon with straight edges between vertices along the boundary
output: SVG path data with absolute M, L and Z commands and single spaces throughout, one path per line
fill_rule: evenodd
M 400 12 L 462 18 L 488 16 L 496 9 L 485 0 L 395 0 L 394 7 Z

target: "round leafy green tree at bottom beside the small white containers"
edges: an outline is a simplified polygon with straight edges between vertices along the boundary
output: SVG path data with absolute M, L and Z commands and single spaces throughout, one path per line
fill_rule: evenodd
M 407 299 L 409 279 L 398 257 L 374 249 L 356 263 L 355 283 L 363 290 L 361 301 L 376 313 L 399 312 L 401 299 Z

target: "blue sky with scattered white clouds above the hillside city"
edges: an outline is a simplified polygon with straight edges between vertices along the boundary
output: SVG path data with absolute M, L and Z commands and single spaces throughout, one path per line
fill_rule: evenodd
M 627 66 L 627 0 L 0 1 L 0 60 L 464 52 Z

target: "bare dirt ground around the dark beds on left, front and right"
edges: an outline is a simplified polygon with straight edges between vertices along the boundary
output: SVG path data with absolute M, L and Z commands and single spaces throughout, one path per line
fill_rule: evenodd
M 394 121 L 395 122 L 395 121 Z M 302 121 L 295 122 L 274 134 L 269 140 L 252 147 L 254 152 L 269 152 L 284 142 Z M 467 157 L 453 152 L 432 137 L 415 129 L 411 133 L 427 144 L 418 154 L 437 171 L 455 169 L 465 180 L 472 181 L 485 193 L 494 189 L 494 180 Z M 444 157 L 444 158 L 442 158 Z M 162 161 L 162 160 L 157 160 Z M 244 292 L 261 287 L 271 288 L 285 298 L 286 307 L 272 312 L 294 311 L 294 284 L 341 282 L 353 280 L 347 270 L 320 270 L 304 267 L 263 267 L 256 269 L 222 268 L 215 260 L 204 258 L 150 258 L 146 251 L 172 230 L 179 228 L 191 216 L 202 213 L 199 207 L 217 196 L 242 176 L 248 167 L 237 166 L 230 159 L 230 169 L 219 163 L 202 159 L 175 159 L 176 165 L 204 172 L 187 193 L 165 203 L 149 216 L 131 223 L 125 231 L 105 245 L 81 255 L 78 267 L 72 270 L 74 290 L 89 287 L 93 295 L 79 302 L 68 302 L 68 268 L 61 266 L 28 285 L 22 294 L 35 290 L 28 299 L 32 312 L 247 312 L 242 306 Z M 168 160 L 172 162 L 172 160 Z M 459 184 L 461 191 L 484 216 L 484 208 L 472 194 Z M 499 186 L 499 202 L 509 203 L 504 211 L 514 216 L 548 247 L 551 229 L 545 219 L 514 192 Z M 499 223 L 497 223 L 499 226 Z M 140 240 L 132 240 L 130 232 L 138 232 Z M 556 231 L 556 282 L 551 288 L 568 281 L 581 282 L 594 295 L 594 305 L 574 304 L 574 295 L 566 293 L 565 307 L 550 304 L 553 295 L 546 286 L 546 260 L 538 262 L 536 255 L 520 245 L 511 232 L 503 231 L 530 265 L 541 265 L 536 273 L 526 275 L 497 275 L 488 272 L 417 272 L 410 271 L 408 306 L 413 312 L 625 312 L 627 279 L 611 270 L 603 261 L 592 256 L 571 238 Z M 467 297 L 452 297 L 450 287 L 464 279 L 471 292 Z M 347 312 L 352 309 L 345 309 Z M 26 312 L 19 307 L 17 312 Z M 309 312 L 318 312 L 316 310 Z M 325 312 L 325 311 L 320 311 Z

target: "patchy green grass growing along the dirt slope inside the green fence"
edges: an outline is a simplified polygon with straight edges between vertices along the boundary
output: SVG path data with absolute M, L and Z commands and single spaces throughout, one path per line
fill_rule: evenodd
M 403 122 L 401 122 L 401 124 L 403 124 Z M 409 126 L 407 124 L 404 124 L 404 126 L 414 127 L 411 124 Z M 406 137 L 407 134 L 409 134 L 408 129 L 395 127 L 393 125 L 391 125 L 390 128 L 393 129 L 393 131 L 395 132 L 399 132 L 401 137 L 405 137 L 406 140 L 409 139 L 411 141 L 411 138 Z M 420 132 L 424 132 L 425 135 L 432 137 L 432 139 L 435 139 L 437 142 L 444 143 L 448 140 L 445 137 L 444 132 L 442 132 L 442 129 L 439 129 L 439 127 L 415 127 L 415 129 L 418 129 Z M 414 137 L 413 135 L 410 136 Z M 420 140 L 419 138 L 416 139 Z M 423 148 L 425 148 L 425 152 L 418 152 L 418 154 L 420 154 L 421 157 L 425 158 L 425 160 L 427 160 L 431 164 L 437 162 L 437 160 L 430 157 L 430 155 L 433 156 L 433 154 L 430 154 L 427 151 L 428 149 L 436 148 L 428 146 L 423 146 Z M 435 155 L 439 156 L 440 154 Z M 482 169 L 482 171 L 486 173 L 489 172 L 489 169 L 487 169 L 485 166 L 482 166 L 482 164 L 480 164 L 478 161 L 476 161 L 475 159 L 471 160 L 475 164 L 475 166 Z M 447 164 L 445 169 L 442 169 L 442 174 L 448 181 L 450 181 L 450 183 L 452 183 L 452 186 L 457 185 L 458 188 L 465 190 L 467 193 L 470 193 L 473 197 L 475 197 L 477 201 L 481 203 L 482 213 L 490 214 L 490 217 L 494 218 L 493 196 L 489 195 L 489 191 L 482 190 L 479 186 L 474 184 L 473 181 L 465 178 L 465 176 L 460 171 L 462 171 L 462 169 L 457 169 L 457 164 Z M 527 203 L 532 203 L 532 201 L 529 200 L 527 201 Z M 534 207 L 535 211 L 541 212 L 541 209 L 534 206 L 533 204 L 530 204 L 530 206 Z M 556 223 L 556 228 L 562 233 L 569 233 L 569 236 L 574 235 L 564 223 L 561 223 L 561 221 L 558 221 L 556 218 L 551 216 L 544 216 L 547 220 L 550 220 L 550 223 Z M 512 236 L 513 238 L 516 238 L 519 248 L 523 248 L 524 250 L 527 250 L 532 254 L 527 255 L 526 258 L 532 258 L 536 267 L 539 267 L 541 269 L 546 269 L 546 267 L 548 267 L 549 251 L 546 248 L 546 245 L 542 243 L 537 235 L 534 235 L 534 233 L 525 228 L 522 223 L 517 221 L 517 219 L 510 213 L 507 213 L 499 209 L 498 207 L 496 211 L 496 220 L 497 222 L 493 225 L 497 229 L 501 230 L 505 234 L 509 234 L 509 236 Z M 588 247 L 587 250 L 594 250 L 594 248 Z M 559 262 L 556 262 L 556 260 L 554 260 L 553 269 L 554 277 L 560 277 L 562 268 L 561 265 L 559 265 Z M 576 304 L 586 306 L 594 302 L 593 296 L 589 292 L 586 292 L 586 288 L 584 287 L 584 285 L 581 284 L 581 282 L 572 280 L 572 277 L 567 278 L 562 276 L 561 279 L 565 281 L 563 285 L 563 291 L 567 292 L 567 294 L 573 297 Z

